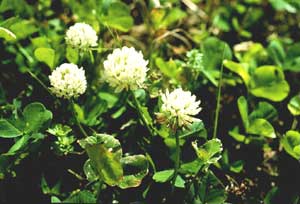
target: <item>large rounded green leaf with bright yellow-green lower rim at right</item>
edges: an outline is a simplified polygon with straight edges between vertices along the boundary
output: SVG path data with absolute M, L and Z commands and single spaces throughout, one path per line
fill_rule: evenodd
M 280 68 L 261 66 L 256 68 L 251 76 L 249 90 L 254 96 L 278 102 L 288 96 L 290 86 L 284 79 L 284 74 Z

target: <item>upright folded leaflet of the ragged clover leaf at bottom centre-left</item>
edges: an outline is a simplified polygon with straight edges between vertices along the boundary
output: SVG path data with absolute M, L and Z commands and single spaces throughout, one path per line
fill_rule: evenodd
M 120 142 L 111 135 L 97 134 L 80 140 L 79 144 L 87 151 L 99 178 L 110 186 L 118 185 L 123 177 Z

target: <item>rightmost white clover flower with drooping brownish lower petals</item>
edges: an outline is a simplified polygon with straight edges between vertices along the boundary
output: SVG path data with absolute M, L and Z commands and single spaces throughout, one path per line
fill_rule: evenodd
M 172 129 L 186 127 L 196 121 L 201 121 L 193 116 L 197 115 L 201 108 L 200 101 L 190 91 L 183 91 L 177 88 L 171 93 L 167 90 L 161 95 L 162 106 L 159 113 L 156 113 L 159 123 L 167 124 Z

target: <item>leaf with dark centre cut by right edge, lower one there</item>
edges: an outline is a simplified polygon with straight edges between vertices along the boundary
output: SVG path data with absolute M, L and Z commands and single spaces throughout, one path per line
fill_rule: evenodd
M 295 159 L 300 159 L 300 133 L 294 130 L 289 130 L 281 139 L 281 144 L 284 150 L 294 157 Z

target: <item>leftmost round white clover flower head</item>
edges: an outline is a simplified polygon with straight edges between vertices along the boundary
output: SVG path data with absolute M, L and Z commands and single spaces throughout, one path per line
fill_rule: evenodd
M 50 90 L 57 97 L 70 99 L 83 94 L 87 87 L 85 72 L 75 64 L 64 63 L 49 76 Z

